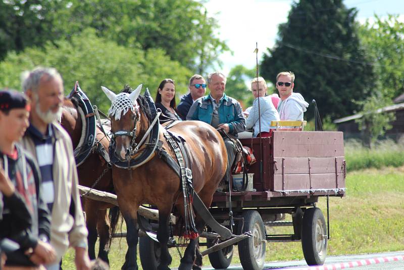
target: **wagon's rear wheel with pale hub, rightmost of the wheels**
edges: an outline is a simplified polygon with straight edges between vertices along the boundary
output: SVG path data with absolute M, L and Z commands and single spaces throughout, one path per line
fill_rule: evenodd
M 327 227 L 320 208 L 309 208 L 303 215 L 301 247 L 308 265 L 324 264 L 327 255 Z

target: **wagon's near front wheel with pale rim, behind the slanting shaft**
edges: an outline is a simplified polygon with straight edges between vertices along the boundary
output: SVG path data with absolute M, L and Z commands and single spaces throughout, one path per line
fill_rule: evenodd
M 251 232 L 252 237 L 238 243 L 238 256 L 246 270 L 262 270 L 265 262 L 266 235 L 261 215 L 256 210 L 243 213 L 243 232 Z

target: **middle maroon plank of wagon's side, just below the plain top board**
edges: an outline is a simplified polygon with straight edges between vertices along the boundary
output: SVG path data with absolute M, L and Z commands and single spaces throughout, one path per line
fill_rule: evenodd
M 311 173 L 335 173 L 334 157 L 285 157 L 283 164 L 285 166 L 284 173 L 309 173 L 309 159 Z M 342 164 L 344 157 L 337 157 L 338 164 Z M 282 158 L 274 158 L 276 161 L 275 174 L 282 174 Z M 272 169 L 272 168 L 269 168 Z

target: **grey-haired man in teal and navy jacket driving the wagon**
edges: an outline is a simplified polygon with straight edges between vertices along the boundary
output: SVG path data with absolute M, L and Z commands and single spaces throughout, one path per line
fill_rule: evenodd
M 187 120 L 199 120 L 223 129 L 231 136 L 237 138 L 237 133 L 245 130 L 245 119 L 240 103 L 224 94 L 226 89 L 226 76 L 220 72 L 208 75 L 208 96 L 195 100 L 186 116 Z M 228 168 L 226 178 L 230 179 L 231 166 L 236 155 L 236 146 L 227 137 L 224 137 L 227 149 Z

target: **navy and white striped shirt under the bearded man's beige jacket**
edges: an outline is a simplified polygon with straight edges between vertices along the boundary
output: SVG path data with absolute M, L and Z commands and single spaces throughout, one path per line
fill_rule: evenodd
M 54 131 L 49 124 L 47 134 L 43 135 L 36 127 L 30 125 L 28 132 L 35 144 L 36 161 L 42 176 L 41 192 L 44 202 L 47 204 L 49 212 L 52 212 L 55 200 L 55 188 L 53 178 L 54 165 Z

